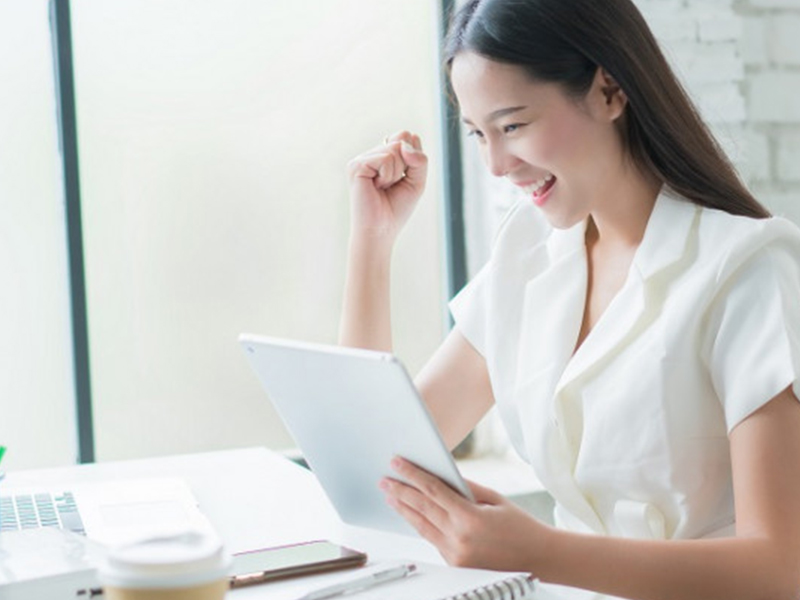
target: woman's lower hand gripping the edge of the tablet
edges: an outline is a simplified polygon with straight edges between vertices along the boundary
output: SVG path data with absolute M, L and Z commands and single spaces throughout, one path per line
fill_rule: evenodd
M 439 550 L 448 564 L 502 571 L 534 570 L 554 529 L 501 494 L 467 482 L 475 502 L 407 460 L 392 468 L 410 485 L 384 478 L 386 501 Z

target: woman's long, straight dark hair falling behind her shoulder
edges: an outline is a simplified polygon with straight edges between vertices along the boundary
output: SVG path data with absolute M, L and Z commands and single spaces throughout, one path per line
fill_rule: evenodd
M 475 52 L 558 83 L 575 98 L 598 67 L 628 98 L 622 135 L 634 163 L 701 206 L 765 218 L 678 82 L 631 0 L 468 0 L 453 15 L 446 66 Z

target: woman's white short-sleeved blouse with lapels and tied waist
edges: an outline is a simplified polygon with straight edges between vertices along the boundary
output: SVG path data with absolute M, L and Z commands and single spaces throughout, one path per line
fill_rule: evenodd
M 560 527 L 732 535 L 728 433 L 788 385 L 800 396 L 800 230 L 662 192 L 622 289 L 573 355 L 585 227 L 552 229 L 518 204 L 451 302 L 511 442 Z

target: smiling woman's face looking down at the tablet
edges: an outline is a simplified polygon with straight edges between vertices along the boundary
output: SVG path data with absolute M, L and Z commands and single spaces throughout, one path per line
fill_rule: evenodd
M 614 126 L 620 111 L 612 114 L 600 73 L 575 100 L 521 67 L 464 52 L 451 79 L 489 170 L 520 186 L 554 227 L 571 227 L 613 199 L 625 153 Z

